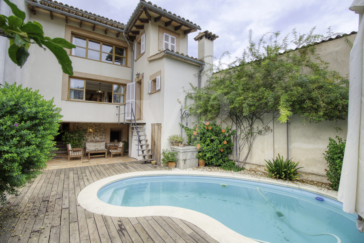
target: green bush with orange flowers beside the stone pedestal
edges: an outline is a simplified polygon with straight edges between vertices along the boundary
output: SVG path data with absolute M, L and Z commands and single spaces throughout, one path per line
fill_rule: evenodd
M 182 127 L 186 131 L 188 143 L 197 147 L 199 160 L 212 165 L 222 165 L 229 160 L 228 154 L 232 152 L 233 146 L 231 136 L 234 136 L 235 130 L 229 127 L 221 129 L 215 121 L 205 124 L 202 120 L 193 128 Z

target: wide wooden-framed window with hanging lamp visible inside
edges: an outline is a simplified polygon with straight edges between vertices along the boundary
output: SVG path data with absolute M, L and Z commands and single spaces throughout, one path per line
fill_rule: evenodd
M 125 85 L 70 77 L 68 99 L 103 103 L 125 103 Z

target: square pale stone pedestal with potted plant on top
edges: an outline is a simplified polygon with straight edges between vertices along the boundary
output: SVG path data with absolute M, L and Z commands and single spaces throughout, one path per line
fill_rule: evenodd
M 198 167 L 197 160 L 197 148 L 195 146 L 171 146 L 172 151 L 176 151 L 177 164 L 176 168 L 178 169 L 188 169 L 193 167 Z

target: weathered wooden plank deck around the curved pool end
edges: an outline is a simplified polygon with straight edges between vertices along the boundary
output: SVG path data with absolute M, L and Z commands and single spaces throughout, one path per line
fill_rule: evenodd
M 78 193 L 102 178 L 165 170 L 143 162 L 51 169 L 0 209 L 0 242 L 218 243 L 197 226 L 171 217 L 110 217 L 84 210 Z

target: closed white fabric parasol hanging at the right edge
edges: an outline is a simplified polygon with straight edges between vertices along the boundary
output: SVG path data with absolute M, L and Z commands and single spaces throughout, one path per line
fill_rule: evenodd
M 359 13 L 359 30 L 350 52 L 348 135 L 338 199 L 343 210 L 357 213 L 357 229 L 364 231 L 364 0 L 349 8 Z

